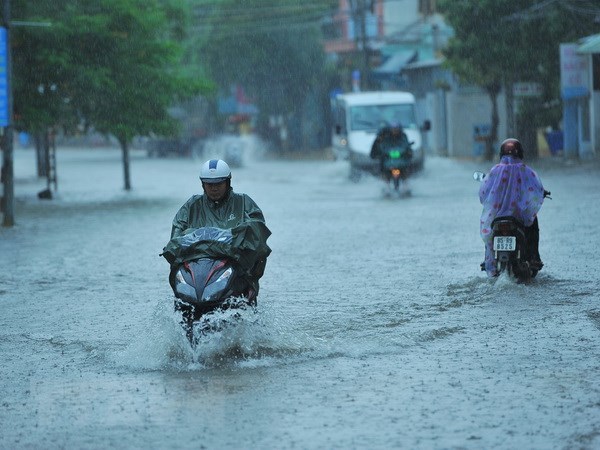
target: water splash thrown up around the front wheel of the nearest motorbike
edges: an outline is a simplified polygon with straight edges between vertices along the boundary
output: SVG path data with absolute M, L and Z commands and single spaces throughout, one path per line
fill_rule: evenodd
M 260 307 L 215 311 L 208 324 L 196 327 L 192 345 L 171 305 L 171 300 L 159 302 L 143 332 L 113 355 L 117 365 L 178 371 L 262 367 L 309 358 L 319 347 L 317 339 L 294 331 L 291 319 Z

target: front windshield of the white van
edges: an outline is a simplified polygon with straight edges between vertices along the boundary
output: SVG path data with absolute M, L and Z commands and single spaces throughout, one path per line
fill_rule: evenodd
M 416 129 L 414 105 L 360 105 L 350 108 L 350 129 L 352 131 L 378 130 L 392 124 Z

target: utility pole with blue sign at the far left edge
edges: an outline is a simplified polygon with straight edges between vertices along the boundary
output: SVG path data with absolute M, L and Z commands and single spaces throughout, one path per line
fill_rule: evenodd
M 0 30 L 3 42 L 0 42 L 0 66 L 4 66 L 4 74 L 0 68 L 0 127 L 2 127 L 2 226 L 12 227 L 15 224 L 14 213 L 14 165 L 13 165 L 13 99 L 12 99 L 12 58 L 10 52 L 10 0 L 4 0 L 3 28 Z M 4 75 L 2 77 L 2 75 Z M 5 97 L 2 99 L 1 97 Z

